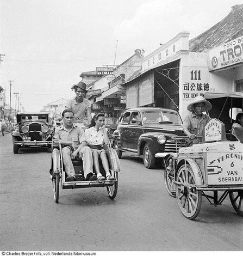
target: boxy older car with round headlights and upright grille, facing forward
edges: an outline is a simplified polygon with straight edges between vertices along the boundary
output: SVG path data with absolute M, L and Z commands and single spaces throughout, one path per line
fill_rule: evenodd
M 12 132 L 14 154 L 21 147 L 51 148 L 53 129 L 48 113 L 18 113 L 16 130 Z

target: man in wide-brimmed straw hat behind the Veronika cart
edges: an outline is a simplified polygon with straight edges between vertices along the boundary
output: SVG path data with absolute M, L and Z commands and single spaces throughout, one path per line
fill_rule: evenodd
M 203 136 L 204 127 L 211 119 L 209 115 L 203 114 L 203 112 L 209 111 L 211 108 L 211 103 L 202 96 L 195 97 L 194 100 L 188 104 L 187 109 L 191 114 L 187 115 L 183 122 L 183 131 L 185 135 L 190 138 L 188 145 L 197 144 L 202 141 L 202 139 L 196 137 Z

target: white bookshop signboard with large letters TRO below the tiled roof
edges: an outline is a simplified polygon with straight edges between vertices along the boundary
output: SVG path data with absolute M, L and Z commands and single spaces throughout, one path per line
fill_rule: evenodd
M 208 51 L 209 71 L 243 64 L 243 36 Z

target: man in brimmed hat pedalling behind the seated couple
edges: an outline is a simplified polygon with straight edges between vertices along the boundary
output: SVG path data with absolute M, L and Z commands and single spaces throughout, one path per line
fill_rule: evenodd
M 78 127 L 85 127 L 84 117 L 87 114 L 88 123 L 91 123 L 91 101 L 86 99 L 86 84 L 79 82 L 78 84 L 71 87 L 76 93 L 76 97 L 66 102 L 66 109 L 70 109 L 74 114 L 73 125 Z

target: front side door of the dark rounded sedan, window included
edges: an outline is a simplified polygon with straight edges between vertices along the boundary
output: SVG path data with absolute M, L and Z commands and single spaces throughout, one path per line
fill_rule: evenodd
M 138 111 L 133 111 L 127 128 L 127 147 L 129 149 L 138 149 L 138 140 L 141 134 L 141 115 Z

